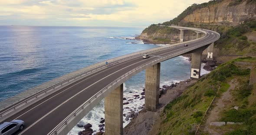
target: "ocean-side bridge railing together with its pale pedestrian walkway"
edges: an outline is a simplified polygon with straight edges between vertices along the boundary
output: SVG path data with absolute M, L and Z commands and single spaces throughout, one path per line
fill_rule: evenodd
M 204 31 L 202 31 L 202 32 L 204 32 Z M 206 32 L 204 32 L 204 33 L 207 34 Z M 107 60 L 107 61 L 109 61 L 109 64 L 105 64 L 105 61 L 102 61 L 102 62 L 99 62 L 97 64 L 93 64 L 89 67 L 85 67 L 85 68 L 82 68 L 80 70 L 74 71 L 72 73 L 76 73 L 76 74 L 72 74 L 71 76 L 66 77 L 62 80 L 59 80 L 59 81 L 57 81 L 57 82 L 55 82 L 55 83 L 53 83 L 53 84 L 51 84 L 47 87 L 42 87 L 44 84 L 50 83 L 50 82 L 52 82 L 56 79 L 59 79 L 61 77 L 64 77 L 64 76 L 68 76 L 71 73 L 63 75 L 63 76 L 58 77 L 56 79 L 50 80 L 46 83 L 40 84 L 39 86 L 36 86 L 36 87 L 34 87 L 30 90 L 26 90 L 26 91 L 24 91 L 20 94 L 17 94 L 16 96 L 10 97 L 7 100 L 4 100 L 4 101 L 0 102 L 0 118 L 3 115 L 9 113 L 10 111 L 13 111 L 16 108 L 18 108 L 18 107 L 20 107 L 20 106 L 22 106 L 26 103 L 32 102 L 33 100 L 37 99 L 39 96 L 43 96 L 44 94 L 48 93 L 49 91 L 56 90 L 57 88 L 59 88 L 63 85 L 67 85 L 70 82 L 73 82 L 73 80 L 81 79 L 82 77 L 85 77 L 85 75 L 92 74 L 95 71 L 104 69 L 107 66 L 117 64 L 117 63 L 125 61 L 127 59 L 136 58 L 139 55 L 144 55 L 145 53 L 152 54 L 152 53 L 155 53 L 155 52 L 158 52 L 158 51 L 163 51 L 163 50 L 166 50 L 166 49 L 169 49 L 169 48 L 178 47 L 179 45 L 184 44 L 184 43 L 198 42 L 200 39 L 203 39 L 205 37 L 206 37 L 206 35 L 199 38 L 199 39 L 194 39 L 194 40 L 187 41 L 187 42 L 181 42 L 181 43 L 176 43 L 176 44 L 173 44 L 173 45 L 167 45 L 167 46 L 163 46 L 163 47 L 159 47 L 159 48 L 153 48 L 153 49 L 148 49 L 148 50 L 144 50 L 144 51 L 138 51 L 138 52 L 135 52 L 135 53 L 131 53 L 129 55 L 123 55 L 123 56 L 120 56 L 120 57 L 117 57 L 117 58 L 112 58 L 112 59 Z

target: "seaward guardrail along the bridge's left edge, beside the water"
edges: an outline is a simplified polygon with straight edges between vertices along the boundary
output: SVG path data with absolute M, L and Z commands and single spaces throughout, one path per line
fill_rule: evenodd
M 199 31 L 202 31 L 203 33 L 207 34 L 203 30 L 199 30 Z M 49 91 L 55 90 L 56 88 L 61 87 L 62 85 L 71 82 L 72 80 L 75 80 L 75 79 L 78 79 L 78 78 L 81 79 L 82 76 L 85 76 L 87 74 L 92 74 L 93 71 L 101 70 L 104 67 L 107 67 L 109 65 L 114 65 L 114 64 L 117 64 L 117 63 L 119 63 L 121 61 L 125 61 L 125 60 L 131 59 L 131 58 L 135 58 L 135 57 L 138 57 L 138 56 L 143 55 L 145 53 L 152 54 L 152 53 L 155 53 L 155 52 L 158 52 L 158 51 L 163 51 L 163 50 L 166 50 L 166 49 L 178 47 L 179 45 L 184 44 L 184 43 L 198 42 L 200 39 L 203 39 L 205 37 L 206 37 L 206 35 L 201 37 L 201 38 L 199 38 L 199 39 L 194 39 L 192 41 L 181 42 L 181 43 L 177 43 L 177 44 L 173 44 L 173 45 L 168 45 L 168 46 L 164 46 L 164 47 L 153 48 L 153 49 L 148 49 L 148 50 L 144 50 L 144 51 L 135 52 L 135 53 L 129 54 L 130 56 L 128 56 L 128 57 L 125 57 L 127 55 L 124 55 L 124 56 L 118 57 L 119 59 L 118 58 L 113 58 L 113 59 L 115 59 L 115 61 L 109 62 L 109 64 L 107 64 L 107 65 L 101 64 L 101 65 L 92 67 L 92 68 L 90 68 L 90 69 L 88 69 L 86 71 L 82 71 L 82 72 L 80 72 L 78 74 L 75 74 L 75 75 L 73 75 L 71 77 L 63 79 L 63 80 L 61 80 L 61 81 L 59 81 L 59 82 L 57 82 L 55 84 L 52 84 L 52 85 L 50 85 L 48 87 L 45 87 L 42 90 L 38 90 L 36 92 L 33 92 L 30 95 L 24 95 L 24 97 L 21 96 L 19 98 L 15 98 L 15 97 L 20 96 L 20 95 L 22 95 L 22 94 L 24 94 L 24 93 L 29 91 L 29 90 L 26 90 L 26 91 L 24 91 L 24 92 L 22 92 L 20 94 L 17 94 L 16 96 L 10 97 L 7 100 L 4 100 L 4 101 L 0 102 L 0 110 L 1 110 L 0 117 L 2 117 L 3 115 L 9 113 L 12 110 L 15 110 L 17 107 L 22 106 L 22 105 L 24 105 L 24 104 L 26 104 L 26 103 L 36 99 L 37 97 L 42 96 L 43 94 L 46 94 Z M 109 59 L 107 61 L 111 61 L 113 59 Z M 100 63 L 102 63 L 102 62 L 100 62 Z M 77 71 L 79 71 L 79 70 L 77 70 Z M 63 75 L 63 76 L 65 76 L 65 75 Z M 51 81 L 52 80 L 50 80 L 48 82 L 51 82 Z M 46 83 L 48 83 L 48 82 L 46 82 Z M 43 84 L 46 84 L 46 83 L 43 83 Z M 39 86 L 41 86 L 43 84 L 40 84 Z M 39 87 L 39 86 L 36 86 L 36 87 Z M 34 87 L 34 88 L 36 88 L 36 87 Z

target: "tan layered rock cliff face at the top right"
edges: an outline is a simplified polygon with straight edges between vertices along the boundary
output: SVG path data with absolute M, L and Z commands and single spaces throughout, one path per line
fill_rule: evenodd
M 237 5 L 231 6 L 234 0 L 223 0 L 221 3 L 197 9 L 186 16 L 183 21 L 197 23 L 230 23 L 236 26 L 248 19 L 256 19 L 256 4 L 249 4 L 243 0 Z

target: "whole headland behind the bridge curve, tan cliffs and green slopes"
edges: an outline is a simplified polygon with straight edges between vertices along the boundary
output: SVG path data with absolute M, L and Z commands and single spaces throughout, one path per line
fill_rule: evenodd
M 215 42 L 214 57 L 220 55 L 256 56 L 256 0 L 211 0 L 193 4 L 183 13 L 162 25 L 179 25 L 211 29 L 220 33 Z M 184 40 L 196 39 L 196 33 L 184 32 Z M 179 42 L 177 29 L 151 25 L 136 39 L 149 43 Z

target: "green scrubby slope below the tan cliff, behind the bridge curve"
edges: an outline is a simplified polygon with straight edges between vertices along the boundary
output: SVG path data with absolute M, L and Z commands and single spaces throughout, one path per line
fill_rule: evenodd
M 215 48 L 219 49 L 219 55 L 256 56 L 256 42 L 246 37 L 246 34 L 256 31 L 256 20 L 250 20 L 235 27 L 208 24 L 196 25 L 192 22 L 183 23 L 182 26 L 210 29 L 219 32 L 221 37 L 215 42 Z M 153 35 L 154 33 L 173 34 L 179 33 L 179 30 L 154 24 L 144 29 L 142 33 L 148 33 L 148 35 Z

